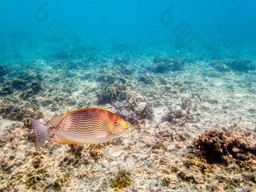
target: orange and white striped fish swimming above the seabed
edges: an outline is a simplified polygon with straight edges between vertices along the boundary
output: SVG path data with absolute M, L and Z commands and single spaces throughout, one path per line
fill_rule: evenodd
M 109 142 L 128 129 L 122 118 L 102 108 L 83 108 L 55 116 L 50 120 L 52 126 L 30 119 L 35 150 L 41 148 L 50 135 L 54 135 L 56 143 L 93 144 Z

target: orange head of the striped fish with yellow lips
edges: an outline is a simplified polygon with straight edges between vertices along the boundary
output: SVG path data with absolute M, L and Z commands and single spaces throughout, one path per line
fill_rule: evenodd
M 112 134 L 118 134 L 128 130 L 128 125 L 125 120 L 123 120 L 121 117 L 118 117 L 117 115 L 114 115 L 110 123 L 111 125 L 109 127 L 109 131 Z

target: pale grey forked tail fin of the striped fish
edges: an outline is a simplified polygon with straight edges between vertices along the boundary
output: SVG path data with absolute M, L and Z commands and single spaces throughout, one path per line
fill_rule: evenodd
M 30 118 L 30 120 L 35 133 L 35 150 L 38 150 L 47 140 L 48 136 L 50 136 L 52 128 L 33 118 Z

